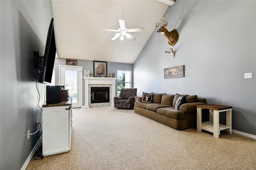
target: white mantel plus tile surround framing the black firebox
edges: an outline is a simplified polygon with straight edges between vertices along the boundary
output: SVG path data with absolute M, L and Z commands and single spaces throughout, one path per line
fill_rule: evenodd
M 114 106 L 114 97 L 116 95 L 116 78 L 110 77 L 84 77 L 84 108 Z M 109 103 L 91 103 L 91 87 L 110 87 Z

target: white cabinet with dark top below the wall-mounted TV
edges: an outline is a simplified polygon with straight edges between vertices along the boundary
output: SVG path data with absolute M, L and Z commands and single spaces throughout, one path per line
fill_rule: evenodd
M 43 105 L 43 155 L 68 152 L 71 148 L 72 100 Z

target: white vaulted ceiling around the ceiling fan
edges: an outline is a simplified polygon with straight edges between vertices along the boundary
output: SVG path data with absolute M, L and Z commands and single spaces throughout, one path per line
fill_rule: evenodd
M 134 63 L 168 6 L 157 0 L 52 0 L 58 57 Z M 111 40 L 116 32 L 100 29 L 117 30 L 119 19 L 145 31 L 131 32 L 135 41 Z

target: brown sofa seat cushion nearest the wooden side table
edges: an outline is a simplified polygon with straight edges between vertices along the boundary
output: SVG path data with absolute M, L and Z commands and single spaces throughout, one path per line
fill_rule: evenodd
M 175 110 L 174 107 L 165 107 L 157 109 L 157 113 L 159 115 L 163 115 L 166 117 L 170 117 L 173 119 L 184 119 L 185 115 L 182 111 Z

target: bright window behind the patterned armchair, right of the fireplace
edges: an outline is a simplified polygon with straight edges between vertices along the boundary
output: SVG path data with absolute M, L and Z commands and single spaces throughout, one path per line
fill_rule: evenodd
M 121 89 L 131 88 L 131 71 L 117 71 L 117 95 L 119 96 Z

